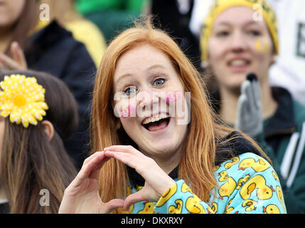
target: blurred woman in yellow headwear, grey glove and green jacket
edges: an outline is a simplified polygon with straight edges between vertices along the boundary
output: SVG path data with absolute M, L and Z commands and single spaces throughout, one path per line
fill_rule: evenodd
M 262 6 L 260 19 L 255 4 Z M 305 107 L 269 84 L 269 68 L 282 50 L 273 9 L 264 0 L 217 0 L 200 44 L 216 112 L 259 142 L 279 173 L 287 212 L 304 213 Z

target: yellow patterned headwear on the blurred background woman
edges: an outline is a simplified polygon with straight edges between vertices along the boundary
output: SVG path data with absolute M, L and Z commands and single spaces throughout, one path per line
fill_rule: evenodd
M 232 6 L 248 6 L 254 10 L 261 9 L 264 21 L 266 21 L 269 32 L 274 43 L 275 53 L 279 54 L 279 38 L 277 34 L 277 18 L 273 9 L 264 0 L 215 0 L 210 7 L 200 34 L 201 61 L 208 60 L 208 39 L 212 32 L 213 23 L 221 12 Z M 258 8 L 256 8 L 258 7 Z

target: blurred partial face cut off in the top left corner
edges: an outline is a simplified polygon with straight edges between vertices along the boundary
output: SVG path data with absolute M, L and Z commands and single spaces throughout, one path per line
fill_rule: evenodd
M 21 15 L 26 0 L 0 0 L 0 30 L 11 27 Z

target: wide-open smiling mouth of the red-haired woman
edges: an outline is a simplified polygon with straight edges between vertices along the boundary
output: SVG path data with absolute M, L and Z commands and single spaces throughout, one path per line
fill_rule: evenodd
M 145 118 L 142 121 L 141 125 L 147 130 L 154 132 L 166 128 L 170 120 L 171 118 L 168 114 L 161 113 L 159 115 L 154 115 L 149 118 Z

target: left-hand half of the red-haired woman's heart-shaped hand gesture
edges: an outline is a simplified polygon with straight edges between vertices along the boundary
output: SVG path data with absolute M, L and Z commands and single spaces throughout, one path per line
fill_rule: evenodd
M 65 189 L 58 213 L 107 214 L 123 207 L 123 199 L 102 202 L 98 191 L 100 169 L 109 160 L 105 152 L 95 152 L 84 161 L 80 172 Z

